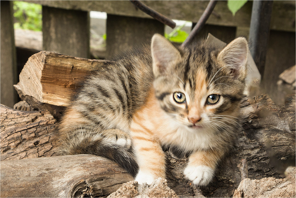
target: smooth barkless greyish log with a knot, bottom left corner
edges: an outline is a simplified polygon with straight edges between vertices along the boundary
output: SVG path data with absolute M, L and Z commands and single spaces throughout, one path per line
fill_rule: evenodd
M 102 197 L 133 178 L 94 155 L 1 161 L 1 197 Z

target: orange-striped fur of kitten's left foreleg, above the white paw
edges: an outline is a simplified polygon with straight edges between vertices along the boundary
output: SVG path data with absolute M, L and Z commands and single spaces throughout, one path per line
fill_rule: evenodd
M 155 138 L 155 129 L 162 124 L 162 110 L 152 88 L 145 104 L 134 114 L 131 123 L 131 137 L 138 153 L 140 170 L 145 170 L 155 178 L 165 177 L 165 153 Z M 153 123 L 153 124 L 150 124 Z

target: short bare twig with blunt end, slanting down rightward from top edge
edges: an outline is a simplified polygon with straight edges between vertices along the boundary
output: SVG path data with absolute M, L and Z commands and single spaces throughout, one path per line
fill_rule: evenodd
M 171 28 L 176 27 L 176 23 L 173 22 L 173 20 L 165 17 L 164 15 L 160 14 L 159 12 L 156 12 L 155 10 L 151 9 L 147 5 L 143 4 L 140 1 L 131 1 L 137 8 L 145 12 L 146 14 L 152 16 L 156 20 L 160 21 L 161 23 L 170 26 Z

